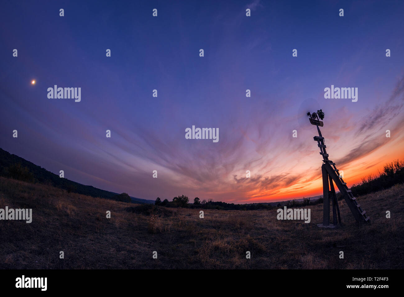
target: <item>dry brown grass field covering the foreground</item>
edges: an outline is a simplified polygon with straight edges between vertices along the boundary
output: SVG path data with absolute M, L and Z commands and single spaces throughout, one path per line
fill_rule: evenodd
M 320 229 L 322 204 L 307 206 L 310 223 L 278 221 L 276 209 L 206 209 L 200 219 L 199 209 L 150 210 L 0 177 L 0 208 L 32 209 L 33 216 L 32 223 L 0 221 L 0 268 L 403 268 L 403 192 L 404 185 L 396 185 L 359 197 L 370 215 L 366 225 L 356 223 L 340 201 L 343 224 Z M 106 211 L 111 211 L 110 219 Z M 386 211 L 391 211 L 390 219 Z M 64 259 L 59 259 L 60 251 Z

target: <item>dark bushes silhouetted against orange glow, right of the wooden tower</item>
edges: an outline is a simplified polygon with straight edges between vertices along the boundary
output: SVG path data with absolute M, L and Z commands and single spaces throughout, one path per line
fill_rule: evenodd
M 372 192 L 388 189 L 393 185 L 404 182 L 404 162 L 395 160 L 387 163 L 378 175 L 368 175 L 362 178 L 359 185 L 351 187 L 354 196 L 361 196 Z

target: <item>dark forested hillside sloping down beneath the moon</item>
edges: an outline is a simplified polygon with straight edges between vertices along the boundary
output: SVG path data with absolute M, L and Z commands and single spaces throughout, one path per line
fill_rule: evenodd
M 92 197 L 107 198 L 112 200 L 132 202 L 129 195 L 122 193 L 117 195 L 109 191 L 101 190 L 92 185 L 82 185 L 59 175 L 51 173 L 41 166 L 35 165 L 19 156 L 12 155 L 0 148 L 0 176 L 19 179 L 29 183 L 43 183 L 73 192 Z

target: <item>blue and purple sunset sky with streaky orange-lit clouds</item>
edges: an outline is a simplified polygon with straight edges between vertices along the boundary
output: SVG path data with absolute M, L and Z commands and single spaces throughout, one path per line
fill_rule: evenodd
M 404 160 L 403 11 L 402 1 L 4 2 L 0 147 L 137 198 L 287 200 L 322 194 L 306 116 L 321 108 L 329 159 L 358 184 Z M 49 99 L 54 85 L 80 87 L 81 101 Z M 331 85 L 358 88 L 358 101 L 324 98 Z M 186 139 L 193 125 L 218 128 L 219 141 Z

